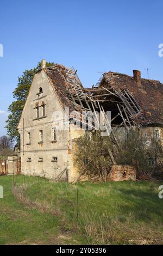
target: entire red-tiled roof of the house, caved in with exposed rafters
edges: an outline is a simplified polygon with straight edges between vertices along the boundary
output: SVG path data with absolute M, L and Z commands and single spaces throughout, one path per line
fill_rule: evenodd
M 70 111 L 111 111 L 111 124 L 163 125 L 163 84 L 134 76 L 106 72 L 94 88 L 84 88 L 77 71 L 61 64 L 44 68 L 59 100 Z

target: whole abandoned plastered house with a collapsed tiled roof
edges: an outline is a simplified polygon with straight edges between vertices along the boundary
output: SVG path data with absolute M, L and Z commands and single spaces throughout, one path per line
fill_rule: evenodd
M 139 70 L 133 72 L 133 76 L 106 72 L 96 86 L 84 88 L 73 68 L 60 64 L 46 68 L 42 60 L 42 69 L 34 76 L 17 127 L 21 136 L 22 174 L 59 177 L 69 182 L 78 178 L 73 141 L 85 130 L 81 125 L 79 129 L 73 128 L 78 126 L 79 119 L 87 125 L 83 111 L 110 111 L 113 136 L 117 130 L 137 125 L 146 140 L 155 136 L 163 141 L 163 84 L 141 78 Z M 96 115 L 95 118 L 98 122 Z M 109 124 L 105 114 L 104 118 L 105 125 Z

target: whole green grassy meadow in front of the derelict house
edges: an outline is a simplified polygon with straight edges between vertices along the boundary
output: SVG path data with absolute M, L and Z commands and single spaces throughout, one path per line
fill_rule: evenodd
M 162 244 L 163 199 L 155 182 L 77 185 L 0 176 L 0 244 Z M 78 220 L 77 220 L 78 186 Z M 21 194 L 21 197 L 20 197 Z

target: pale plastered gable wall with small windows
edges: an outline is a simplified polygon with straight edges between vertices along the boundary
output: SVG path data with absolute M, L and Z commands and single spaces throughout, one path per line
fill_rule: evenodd
M 42 87 L 43 93 L 37 97 L 39 88 Z M 36 118 L 36 103 L 45 102 L 46 104 L 46 118 L 34 120 Z M 41 108 L 39 108 L 41 112 Z M 58 113 L 62 113 L 58 117 Z M 67 144 L 68 144 L 68 131 L 60 131 L 60 119 L 64 118 L 64 112 L 58 101 L 57 96 L 45 72 L 42 70 L 34 77 L 32 87 L 30 89 L 26 106 L 24 107 L 18 130 L 21 135 L 21 162 L 22 174 L 26 175 L 39 175 L 46 178 L 55 178 L 66 167 L 67 162 Z M 24 129 L 23 129 L 24 119 Z M 58 120 L 57 120 L 58 119 Z M 57 142 L 53 142 L 53 127 L 57 127 Z M 40 141 L 39 130 L 43 131 L 43 143 L 38 144 Z M 31 133 L 31 144 L 28 145 L 27 133 Z M 24 138 L 23 138 L 24 137 Z M 57 156 L 58 162 L 52 162 L 52 157 Z M 39 157 L 43 157 L 43 162 L 39 162 Z M 31 162 L 27 159 L 31 158 Z M 65 178 L 65 176 L 63 176 Z

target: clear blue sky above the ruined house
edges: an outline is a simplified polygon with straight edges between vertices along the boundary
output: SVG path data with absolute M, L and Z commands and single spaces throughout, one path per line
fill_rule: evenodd
M 163 1 L 28 0 L 0 3 L 0 136 L 17 77 L 41 59 L 74 66 L 84 87 L 99 72 L 117 71 L 163 82 Z

